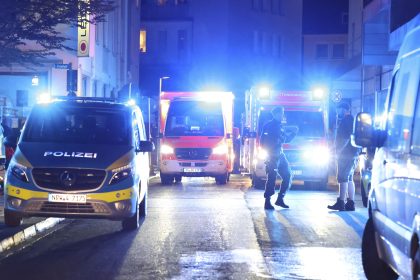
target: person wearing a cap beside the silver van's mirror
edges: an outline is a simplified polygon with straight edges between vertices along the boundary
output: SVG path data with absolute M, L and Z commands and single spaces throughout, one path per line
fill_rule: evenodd
M 337 106 L 337 134 L 335 138 L 337 158 L 337 181 L 339 197 L 337 202 L 329 205 L 328 209 L 338 211 L 354 211 L 355 185 L 353 173 L 357 165 L 359 149 L 351 145 L 353 132 L 353 116 L 350 113 L 350 105 L 342 102 Z M 345 200 L 347 201 L 345 202 Z

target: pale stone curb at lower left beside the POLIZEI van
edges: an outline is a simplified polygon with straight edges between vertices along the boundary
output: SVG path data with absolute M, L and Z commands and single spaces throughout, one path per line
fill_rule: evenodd
M 0 254 L 54 227 L 62 221 L 64 221 L 64 218 L 48 218 L 15 233 L 13 236 L 0 241 Z

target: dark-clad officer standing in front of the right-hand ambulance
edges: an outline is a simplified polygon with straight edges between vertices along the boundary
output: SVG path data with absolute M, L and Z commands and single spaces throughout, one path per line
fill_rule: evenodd
M 273 210 L 271 204 L 271 196 L 275 193 L 276 177 L 279 174 L 282 178 L 280 192 L 278 194 L 275 205 L 289 208 L 284 203 L 284 196 L 292 183 L 292 171 L 285 154 L 283 153 L 283 143 L 289 143 L 297 134 L 297 127 L 286 130 L 282 121 L 284 118 L 284 108 L 276 107 L 271 111 L 273 119 L 264 125 L 261 134 L 261 147 L 268 153 L 266 161 L 267 182 L 264 192 L 264 208 Z

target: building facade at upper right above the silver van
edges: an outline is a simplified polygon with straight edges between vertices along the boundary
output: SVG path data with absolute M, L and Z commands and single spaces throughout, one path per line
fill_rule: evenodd
M 334 83 L 351 89 L 354 111 L 382 114 L 399 46 L 419 24 L 417 0 L 349 2 L 348 67 Z

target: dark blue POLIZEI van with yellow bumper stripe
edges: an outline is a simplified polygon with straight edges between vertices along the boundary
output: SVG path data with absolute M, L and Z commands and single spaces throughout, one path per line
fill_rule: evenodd
M 138 228 L 153 149 L 138 106 L 79 97 L 37 104 L 7 169 L 5 224 L 44 216 Z

